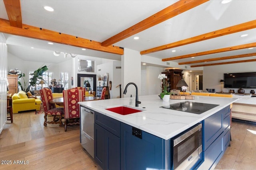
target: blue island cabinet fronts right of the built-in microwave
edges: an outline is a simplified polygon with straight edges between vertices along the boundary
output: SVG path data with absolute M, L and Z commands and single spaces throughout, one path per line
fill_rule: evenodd
M 212 169 L 230 144 L 230 106 L 204 119 L 202 125 L 204 162 L 199 169 Z

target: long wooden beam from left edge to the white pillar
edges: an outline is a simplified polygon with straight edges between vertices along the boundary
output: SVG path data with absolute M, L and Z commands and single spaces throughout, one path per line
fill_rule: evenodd
M 92 41 L 89 39 L 83 39 L 73 35 L 59 33 L 48 29 L 38 28 L 31 25 L 22 24 L 23 28 L 17 28 L 10 26 L 8 20 L 0 18 L 0 32 L 8 33 L 12 35 L 19 35 L 22 37 L 40 39 L 45 41 L 51 41 L 54 43 L 60 43 L 65 45 L 71 45 L 75 47 L 81 47 L 96 51 L 102 51 L 106 53 L 113 53 L 118 55 L 124 54 L 124 49 L 117 46 L 103 47 L 100 42 Z

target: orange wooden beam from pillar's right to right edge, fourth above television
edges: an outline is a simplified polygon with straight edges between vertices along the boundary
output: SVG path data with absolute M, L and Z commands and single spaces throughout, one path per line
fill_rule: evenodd
M 240 32 L 240 31 L 245 31 L 245 30 L 253 29 L 253 28 L 256 28 L 256 20 L 249 21 L 249 22 L 246 22 L 246 23 L 241 23 L 241 24 L 238 24 L 238 25 L 234 25 L 234 26 L 231 26 L 231 27 L 224 28 L 224 29 L 219 29 L 217 31 L 212 31 L 210 33 L 205 33 L 205 34 L 198 35 L 198 36 L 195 36 L 195 37 L 191 37 L 191 38 L 188 38 L 188 39 L 183 39 L 183 40 L 180 40 L 180 41 L 176 41 L 174 43 L 161 45 L 159 47 L 154 47 L 152 49 L 147 49 L 147 50 L 144 50 L 144 51 L 140 51 L 140 55 L 145 55 L 145 54 L 154 53 L 154 52 L 157 52 L 157 51 L 171 49 L 171 48 L 174 48 L 174 47 L 179 47 L 179 46 L 182 46 L 182 45 L 196 43 L 196 42 L 199 42 L 199 41 L 204 41 L 206 39 L 212 39 L 212 38 L 220 37 L 220 36 L 223 36 L 223 35 L 237 33 L 237 32 Z

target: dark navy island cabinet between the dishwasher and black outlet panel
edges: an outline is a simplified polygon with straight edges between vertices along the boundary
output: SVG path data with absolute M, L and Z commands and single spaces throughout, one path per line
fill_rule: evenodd
M 120 170 L 120 121 L 95 113 L 94 160 L 104 170 Z

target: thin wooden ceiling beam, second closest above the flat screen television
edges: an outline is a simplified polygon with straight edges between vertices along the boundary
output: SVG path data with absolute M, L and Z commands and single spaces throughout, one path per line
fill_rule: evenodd
M 254 55 L 256 56 L 256 53 L 233 55 L 233 56 L 228 56 L 228 57 L 218 57 L 218 58 L 214 58 L 214 59 L 205 59 L 205 60 L 198 60 L 198 61 L 188 61 L 188 62 L 179 63 L 179 65 L 193 64 L 193 63 L 204 63 L 204 62 L 209 62 L 209 61 L 220 61 L 220 60 L 228 60 L 228 59 L 238 59 L 238 58 L 242 58 L 242 57 L 252 57 Z

